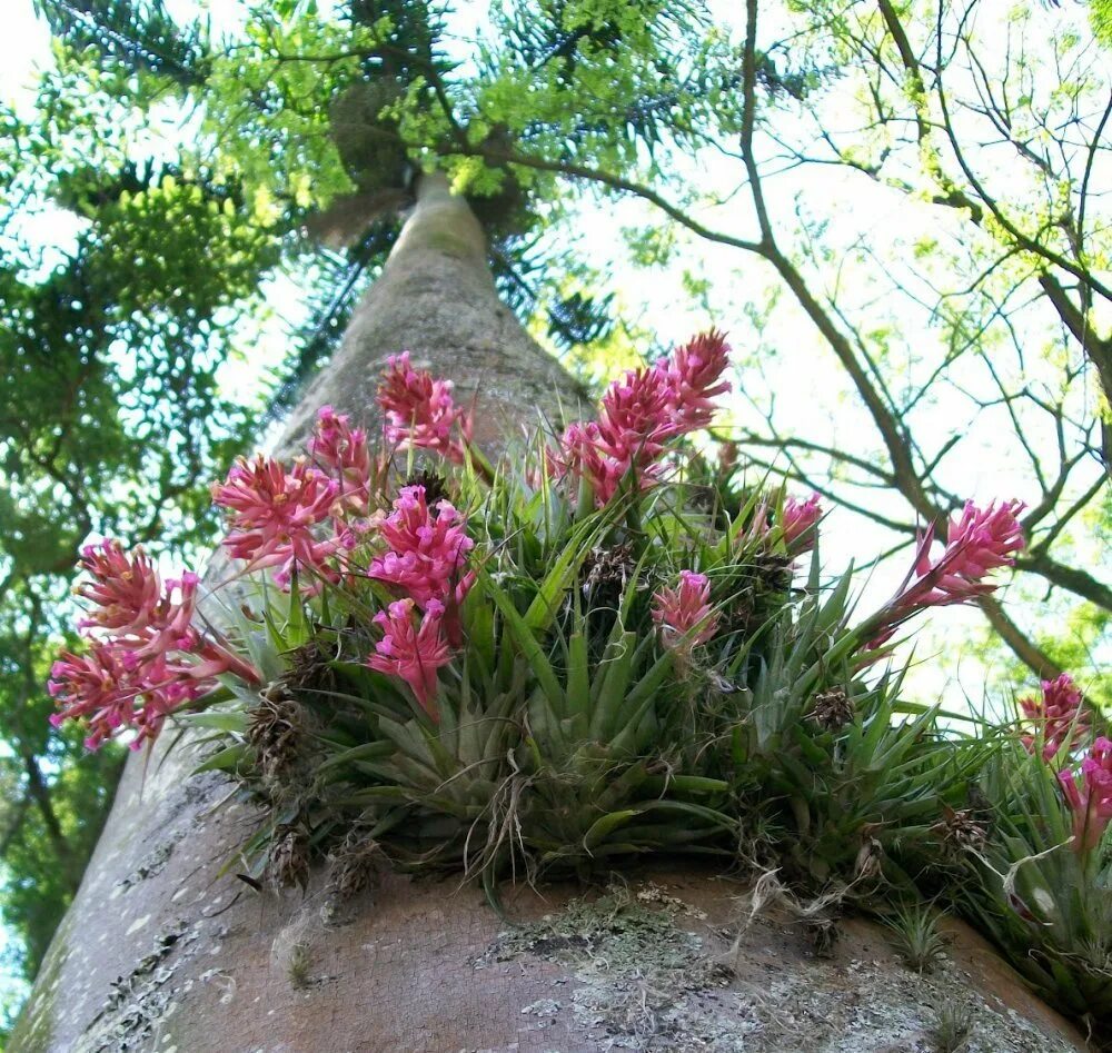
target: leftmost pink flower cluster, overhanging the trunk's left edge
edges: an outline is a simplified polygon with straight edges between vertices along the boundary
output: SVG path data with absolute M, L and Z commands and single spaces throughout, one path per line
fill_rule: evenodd
M 79 628 L 89 647 L 63 652 L 47 686 L 59 706 L 51 723 L 86 721 L 90 749 L 125 728 L 138 732 L 136 748 L 153 739 L 167 714 L 211 691 L 221 673 L 258 681 L 248 663 L 193 626 L 196 574 L 163 584 L 146 553 L 129 555 L 111 539 L 86 546 L 81 567 L 89 579 L 76 592 L 92 607 Z

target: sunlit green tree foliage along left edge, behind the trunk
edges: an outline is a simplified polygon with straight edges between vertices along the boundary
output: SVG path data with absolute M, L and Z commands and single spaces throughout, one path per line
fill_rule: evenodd
M 4 965 L 28 977 L 121 759 L 44 734 L 75 555 L 97 534 L 188 546 L 211 533 L 212 465 L 258 411 L 221 377 L 279 259 L 238 186 L 135 149 L 139 111 L 77 54 L 59 53 L 36 112 L 0 111 L 0 880 L 22 941 Z

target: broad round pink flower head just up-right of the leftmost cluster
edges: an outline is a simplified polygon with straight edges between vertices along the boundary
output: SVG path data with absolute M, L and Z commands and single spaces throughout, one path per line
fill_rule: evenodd
M 240 458 L 222 483 L 212 484 L 212 501 L 231 510 L 231 530 L 222 544 L 251 569 L 279 566 L 279 580 L 298 567 L 329 575 L 325 560 L 338 538 L 318 540 L 314 527 L 326 520 L 340 486 L 304 459 L 286 468 L 261 454 Z

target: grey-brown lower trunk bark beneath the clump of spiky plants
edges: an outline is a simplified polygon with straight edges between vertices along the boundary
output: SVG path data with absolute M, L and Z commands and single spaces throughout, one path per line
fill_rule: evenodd
M 384 875 L 328 921 L 315 891 L 279 898 L 218 876 L 214 850 L 250 816 L 210 812 L 215 777 L 177 794 L 167 779 L 110 826 L 82 893 L 100 908 L 67 928 L 14 1049 L 931 1053 L 946 1007 L 967 1022 L 970 1053 L 1083 1049 L 964 926 L 931 976 L 860 921 L 821 956 L 791 914 L 748 922 L 745 888 L 693 866 L 583 898 L 518 888 L 514 924 L 456 880 Z

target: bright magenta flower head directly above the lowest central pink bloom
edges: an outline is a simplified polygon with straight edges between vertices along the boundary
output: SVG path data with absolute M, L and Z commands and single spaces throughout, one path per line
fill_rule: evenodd
M 379 535 L 390 550 L 371 562 L 373 578 L 405 590 L 423 610 L 449 597 L 463 602 L 474 582 L 474 575 L 463 573 L 465 557 L 475 543 L 465 532 L 464 517 L 448 501 L 437 504 L 434 517 L 424 486 L 403 487 Z

